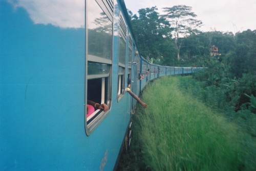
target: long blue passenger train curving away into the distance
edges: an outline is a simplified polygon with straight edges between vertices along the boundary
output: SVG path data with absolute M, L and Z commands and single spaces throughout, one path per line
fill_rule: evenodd
M 113 170 L 139 95 L 201 68 L 148 63 L 123 0 L 0 1 L 0 169 Z M 87 114 L 87 102 L 109 110 Z

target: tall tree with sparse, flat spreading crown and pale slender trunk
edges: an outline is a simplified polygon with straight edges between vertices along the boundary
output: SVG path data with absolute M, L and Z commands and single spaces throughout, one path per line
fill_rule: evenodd
M 191 34 L 198 33 L 197 28 L 202 26 L 202 21 L 195 19 L 197 15 L 191 12 L 191 7 L 185 5 L 178 5 L 172 8 L 163 8 L 166 14 L 162 17 L 170 22 L 173 29 L 173 36 L 175 39 L 175 47 L 177 50 L 177 59 L 180 60 L 180 47 L 182 42 L 181 37 L 186 37 Z

